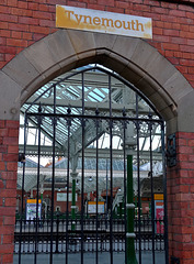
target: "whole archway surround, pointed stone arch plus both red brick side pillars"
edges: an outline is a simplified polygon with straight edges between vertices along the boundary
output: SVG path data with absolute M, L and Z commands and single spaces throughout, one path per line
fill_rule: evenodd
M 88 63 L 101 63 L 136 85 L 167 120 L 169 133 L 178 131 L 178 165 L 168 170 L 169 248 L 170 255 L 191 258 L 189 262 L 193 263 L 193 88 L 174 66 L 142 40 L 71 30 L 57 31 L 36 42 L 0 70 L 3 143 L 0 193 L 5 197 L 5 206 L 0 206 L 1 215 L 4 215 L 3 221 L 1 217 L 3 244 L 0 250 L 8 253 L 1 257 L 2 263 L 12 263 L 13 245 L 8 242 L 8 230 L 9 241 L 12 241 L 20 107 L 49 79 Z M 185 260 L 184 263 L 189 262 Z

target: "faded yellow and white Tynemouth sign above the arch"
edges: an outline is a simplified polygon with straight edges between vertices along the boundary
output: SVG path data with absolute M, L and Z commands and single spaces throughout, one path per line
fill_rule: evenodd
M 149 18 L 58 4 L 56 26 L 152 38 L 152 21 Z

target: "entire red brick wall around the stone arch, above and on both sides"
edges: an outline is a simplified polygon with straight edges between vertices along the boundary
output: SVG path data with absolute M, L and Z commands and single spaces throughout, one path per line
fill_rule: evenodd
M 187 4 L 194 4 L 194 0 L 179 2 L 1 0 L 0 68 L 25 47 L 55 32 L 55 4 L 66 4 L 152 18 L 153 38 L 147 42 L 194 87 L 194 11 Z M 0 121 L 0 263 L 12 263 L 18 131 L 18 121 Z M 180 257 L 181 264 L 193 264 L 194 134 L 178 132 L 176 139 L 178 165 L 168 170 L 170 255 Z

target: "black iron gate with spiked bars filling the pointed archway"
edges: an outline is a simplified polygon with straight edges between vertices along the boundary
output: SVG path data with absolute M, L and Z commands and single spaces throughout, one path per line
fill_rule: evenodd
M 164 122 L 152 103 L 89 65 L 42 87 L 21 111 L 14 263 L 168 264 Z

